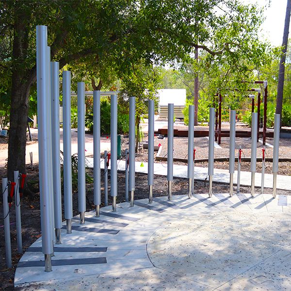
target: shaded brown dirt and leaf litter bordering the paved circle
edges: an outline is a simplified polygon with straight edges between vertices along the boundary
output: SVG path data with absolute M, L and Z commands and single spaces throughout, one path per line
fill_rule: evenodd
M 93 177 L 93 171 L 87 170 L 88 174 Z M 6 169 L 0 169 L 0 176 L 3 177 Z M 103 170 L 101 170 L 101 201 L 104 201 L 104 184 L 103 184 Z M 32 242 L 34 242 L 41 235 L 40 229 L 40 205 L 39 205 L 39 188 L 38 188 L 38 166 L 28 166 L 28 184 L 30 189 L 35 193 L 32 196 L 24 195 L 21 201 L 21 219 L 22 219 L 22 242 L 23 251 L 28 248 Z M 125 201 L 125 188 L 124 188 L 124 172 L 118 173 L 118 197 L 117 202 Z M 109 179 L 110 183 L 110 179 Z M 0 185 L 1 187 L 1 185 Z M 142 199 L 148 197 L 147 192 L 147 176 L 144 174 L 136 174 L 136 191 L 135 199 Z M 167 195 L 167 179 L 163 176 L 155 176 L 154 178 L 154 197 L 160 197 Z M 185 194 L 187 195 L 188 181 L 183 178 L 175 178 L 173 181 L 173 195 L 175 194 Z M 204 194 L 208 191 L 208 182 L 195 181 L 194 190 L 197 194 Z M 229 191 L 228 185 L 226 184 L 213 184 L 213 193 L 227 193 Z M 259 193 L 259 188 L 256 189 Z M 249 193 L 250 187 L 241 187 L 242 193 Z M 272 194 L 272 189 L 266 189 L 268 194 Z M 288 191 L 277 192 L 278 194 L 290 194 Z M 64 199 L 64 197 L 62 197 Z M 93 205 L 93 183 L 86 185 L 86 201 L 87 210 L 94 209 Z M 109 196 L 109 203 L 111 203 L 111 197 Z M 101 207 L 104 204 L 101 204 Z M 64 208 L 64 205 L 63 205 Z M 10 224 L 11 224 L 11 244 L 12 244 L 12 258 L 13 258 L 13 268 L 7 269 L 5 267 L 5 245 L 4 245 L 4 227 L 3 227 L 3 212 L 2 212 L 2 200 L 0 202 L 0 290 L 14 290 L 13 280 L 14 273 L 18 263 L 21 258 L 21 254 L 17 254 L 17 243 L 16 243 L 16 224 L 15 224 L 15 206 L 12 205 L 10 212 Z M 78 214 L 78 193 L 73 193 L 73 214 Z M 64 217 L 64 213 L 63 213 Z

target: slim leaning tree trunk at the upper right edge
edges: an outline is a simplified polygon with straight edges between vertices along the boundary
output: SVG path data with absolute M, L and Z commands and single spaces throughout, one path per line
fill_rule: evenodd
M 282 50 L 280 65 L 279 65 L 276 114 L 282 114 L 285 62 L 286 62 L 286 52 L 287 52 L 288 35 L 289 35 L 290 13 L 291 13 L 291 0 L 288 0 L 287 8 L 286 8 L 286 16 L 285 16 L 284 33 L 283 33 L 283 43 L 282 43 L 283 50 Z

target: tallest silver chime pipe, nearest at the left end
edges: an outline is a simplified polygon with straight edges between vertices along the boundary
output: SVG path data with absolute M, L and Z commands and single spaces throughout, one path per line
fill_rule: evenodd
M 49 192 L 49 130 L 48 130 L 48 28 L 36 26 L 36 77 L 38 115 L 39 190 L 41 210 L 42 252 L 45 271 L 50 272 L 52 244 L 51 205 Z

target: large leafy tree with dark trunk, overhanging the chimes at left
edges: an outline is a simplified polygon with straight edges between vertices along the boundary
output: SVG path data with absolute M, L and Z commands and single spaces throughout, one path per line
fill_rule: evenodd
M 36 25 L 48 25 L 51 59 L 60 68 L 94 60 L 97 72 L 102 64 L 130 76 L 141 59 L 148 66 L 187 61 L 195 49 L 232 66 L 246 54 L 256 59 L 264 49 L 260 22 L 260 11 L 238 0 L 0 0 L 0 41 L 7 43 L 0 65 L 11 92 L 8 177 L 25 172 Z

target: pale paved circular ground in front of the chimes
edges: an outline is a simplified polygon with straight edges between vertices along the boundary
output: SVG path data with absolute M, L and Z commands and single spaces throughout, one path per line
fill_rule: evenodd
M 291 290 L 287 198 L 177 195 L 86 213 L 85 225 L 76 217 L 72 234 L 63 230 L 52 272 L 41 238 L 32 244 L 16 290 Z

